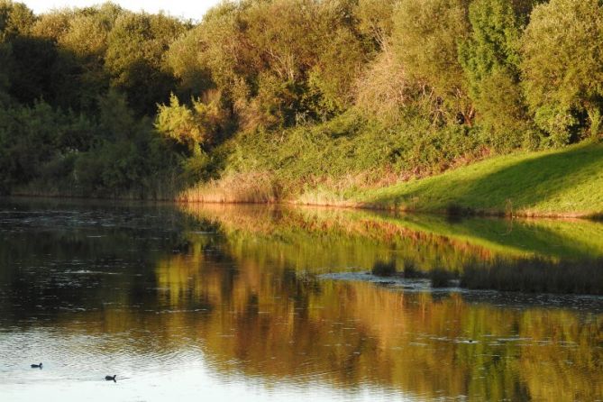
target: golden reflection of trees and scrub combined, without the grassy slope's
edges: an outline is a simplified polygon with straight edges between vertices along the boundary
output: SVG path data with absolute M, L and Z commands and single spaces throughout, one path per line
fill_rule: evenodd
M 476 252 L 489 258 L 500 250 L 333 211 L 194 213 L 219 223 L 219 252 L 206 246 L 204 235 L 190 233 L 191 251 L 157 264 L 158 285 L 168 289 L 164 301 L 172 309 L 200 300 L 208 306 L 203 319 L 187 315 L 188 326 L 224 373 L 309 384 L 322 379 L 342 388 L 371 384 L 434 398 L 603 397 L 601 315 L 493 306 L 460 294 L 308 274 L 390 258 L 404 264 L 413 251 L 424 254 L 412 262 L 423 267 L 443 259 L 460 267 Z M 178 332 L 181 319 L 170 315 L 161 324 Z

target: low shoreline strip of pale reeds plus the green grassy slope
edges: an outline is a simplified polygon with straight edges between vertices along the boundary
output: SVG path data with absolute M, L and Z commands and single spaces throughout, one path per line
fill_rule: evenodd
M 442 174 L 362 188 L 339 183 L 283 182 L 270 171 L 240 172 L 199 184 L 176 196 L 155 192 L 115 198 L 183 203 L 259 203 L 344 206 L 443 215 L 603 217 L 603 144 L 584 142 L 560 150 L 491 157 Z M 297 190 L 291 190 L 293 187 Z M 288 187 L 288 191 L 283 188 Z M 23 190 L 30 191 L 23 191 Z M 66 196 L 16 191 L 17 196 Z M 160 196 L 158 197 L 157 195 Z M 69 195 L 67 195 L 69 196 Z M 74 196 L 71 194 L 70 196 Z M 82 195 L 78 195 L 82 196 Z

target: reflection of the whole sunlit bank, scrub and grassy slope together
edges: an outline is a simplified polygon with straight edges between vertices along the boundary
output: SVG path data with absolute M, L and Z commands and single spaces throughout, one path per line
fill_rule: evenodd
M 390 261 L 397 270 L 461 271 L 497 256 L 553 260 L 603 257 L 603 224 L 574 220 L 393 216 L 361 210 L 182 205 L 220 224 L 233 252 L 287 260 L 297 271 L 370 270 Z

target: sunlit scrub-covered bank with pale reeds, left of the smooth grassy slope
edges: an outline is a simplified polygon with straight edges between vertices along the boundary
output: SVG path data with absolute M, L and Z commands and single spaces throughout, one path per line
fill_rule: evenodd
M 224 144 L 228 156 L 222 178 L 184 191 L 178 199 L 360 206 L 354 196 L 409 178 L 438 173 L 484 156 L 475 136 L 460 127 L 434 129 L 408 112 L 405 123 L 370 120 L 350 110 L 324 123 L 281 132 L 239 132 Z M 254 175 L 259 195 L 251 193 Z M 251 179 L 253 181 L 253 179 Z M 270 183 L 270 185 L 268 185 Z M 229 189 L 228 187 L 233 187 Z M 278 191 L 265 190 L 277 188 Z

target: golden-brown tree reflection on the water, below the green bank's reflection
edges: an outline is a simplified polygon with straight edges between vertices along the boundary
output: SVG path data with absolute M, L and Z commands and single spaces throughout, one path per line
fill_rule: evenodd
M 158 268 L 161 278 L 168 278 L 165 270 L 178 270 L 169 274 L 169 287 L 190 295 L 174 299 L 172 308 L 187 308 L 196 297 L 213 306 L 196 335 L 219 370 L 319 378 L 343 388 L 368 381 L 425 397 L 491 400 L 545 398 L 572 379 L 584 399 L 601 396 L 601 389 L 588 385 L 602 372 L 596 321 L 585 324 L 565 310 L 518 311 L 468 304 L 458 295 L 434 298 L 369 283 L 316 281 L 289 268 L 287 259 L 275 259 L 262 242 L 245 243 L 226 240 L 222 248 L 236 275 L 224 256 L 206 255 L 203 263 L 175 256 Z M 544 341 L 552 342 L 544 347 Z M 540 370 L 543 365 L 551 370 Z

